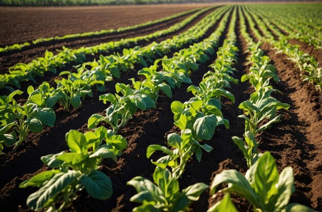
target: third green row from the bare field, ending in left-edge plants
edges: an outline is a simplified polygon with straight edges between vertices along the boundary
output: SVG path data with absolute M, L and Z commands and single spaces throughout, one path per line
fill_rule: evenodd
M 10 95 L 2 96 L 0 103 L 0 152 L 3 148 L 14 146 L 13 151 L 27 139 L 30 131 L 38 133 L 43 129 L 43 125 L 53 126 L 56 121 L 55 111 L 52 109 L 57 103 L 62 105 L 65 110 L 72 106 L 78 108 L 85 97 L 93 97 L 92 89 L 96 87 L 99 91 L 104 91 L 104 82 L 112 80 L 112 77 L 120 77 L 120 71 L 127 71 L 134 68 L 134 64 L 140 63 L 147 67 L 148 62 L 152 61 L 157 55 L 165 54 L 171 49 L 183 46 L 185 43 L 193 43 L 219 19 L 221 14 L 213 13 L 200 22 L 200 27 L 192 27 L 195 30 L 194 36 L 177 36 L 172 40 L 166 40 L 159 44 L 153 44 L 148 48 L 124 49 L 126 54 L 101 56 L 99 61 L 84 63 L 78 68 L 77 73 L 63 71 L 60 76 L 67 75 L 67 79 L 56 80 L 57 88 L 50 87 L 44 82 L 37 89 L 29 86 L 27 92 L 29 97 L 22 106 L 13 99 L 15 94 L 22 94 L 22 91 L 13 91 Z M 190 32 L 188 30 L 187 32 Z M 163 48 L 169 47 L 169 48 Z M 136 53 L 134 53 L 136 52 Z M 88 69 L 86 66 L 92 68 Z M 10 133 L 9 133 L 10 132 Z M 18 140 L 17 140 L 18 134 Z

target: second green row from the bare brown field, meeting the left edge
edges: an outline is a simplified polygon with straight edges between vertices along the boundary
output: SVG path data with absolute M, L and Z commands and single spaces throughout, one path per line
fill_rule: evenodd
M 70 63 L 82 64 L 86 61 L 86 55 L 120 50 L 121 47 L 127 47 L 140 41 L 149 41 L 153 38 L 162 37 L 166 34 L 178 31 L 192 22 L 197 16 L 212 8 L 213 7 L 205 8 L 187 17 L 182 22 L 174 24 L 167 29 L 159 30 L 148 35 L 126 38 L 120 41 L 111 41 L 108 43 L 99 44 L 97 46 L 81 47 L 78 49 L 69 49 L 63 47 L 61 50 L 58 50 L 59 53 L 56 55 L 50 51 L 46 51 L 43 57 L 38 57 L 28 64 L 17 63 L 9 68 L 9 73 L 0 74 L 0 89 L 7 88 L 12 90 L 12 87 L 10 87 L 11 85 L 20 88 L 20 83 L 22 81 L 32 81 L 35 83 L 35 76 L 42 77 L 47 71 L 56 73 L 57 68 L 63 68 L 65 65 Z

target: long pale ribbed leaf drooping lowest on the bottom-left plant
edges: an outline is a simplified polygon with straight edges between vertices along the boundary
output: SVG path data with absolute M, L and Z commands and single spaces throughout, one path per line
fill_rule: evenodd
M 33 210 L 42 209 L 48 201 L 55 198 L 68 185 L 75 182 L 79 176 L 77 171 L 71 170 L 66 173 L 60 172 L 49 180 L 38 191 L 29 195 L 27 199 L 27 206 Z

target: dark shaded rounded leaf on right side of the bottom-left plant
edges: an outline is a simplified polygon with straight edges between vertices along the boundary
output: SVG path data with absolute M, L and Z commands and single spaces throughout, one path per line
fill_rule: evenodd
M 83 175 L 80 178 L 87 194 L 99 200 L 106 200 L 112 196 L 112 182 L 108 176 L 101 171 L 93 170 L 90 175 Z

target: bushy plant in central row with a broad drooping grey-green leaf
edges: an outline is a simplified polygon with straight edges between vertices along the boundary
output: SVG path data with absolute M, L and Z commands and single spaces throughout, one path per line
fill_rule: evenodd
M 187 91 L 191 91 L 194 98 L 189 102 L 174 101 L 171 110 L 174 113 L 174 124 L 182 130 L 191 129 L 195 138 L 210 140 L 218 125 L 229 127 L 228 120 L 221 113 L 221 96 L 235 101 L 234 95 L 222 88 L 212 87 L 212 83 L 200 83 L 200 87 L 191 85 Z

